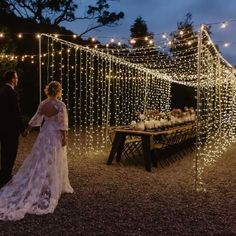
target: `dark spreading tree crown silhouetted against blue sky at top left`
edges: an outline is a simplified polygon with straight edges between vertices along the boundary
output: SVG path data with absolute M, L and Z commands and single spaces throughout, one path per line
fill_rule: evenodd
M 97 0 L 95 6 L 89 5 L 83 17 L 76 15 L 78 5 L 75 0 L 2 0 L 0 6 L 4 12 L 31 19 L 38 24 L 57 26 L 65 21 L 96 20 L 95 25 L 80 35 L 103 26 L 114 26 L 124 17 L 123 12 L 109 12 L 107 0 Z

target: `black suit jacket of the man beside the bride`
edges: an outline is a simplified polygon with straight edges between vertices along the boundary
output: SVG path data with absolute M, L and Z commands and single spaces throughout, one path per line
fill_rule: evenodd
M 22 130 L 18 96 L 9 85 L 0 88 L 0 132 L 18 133 Z

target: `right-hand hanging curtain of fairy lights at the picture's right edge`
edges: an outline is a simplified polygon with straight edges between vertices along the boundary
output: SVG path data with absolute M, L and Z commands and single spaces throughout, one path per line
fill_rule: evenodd
M 204 190 L 209 168 L 235 141 L 236 77 L 234 68 L 220 55 L 207 29 L 199 35 L 197 79 L 197 155 L 195 188 Z

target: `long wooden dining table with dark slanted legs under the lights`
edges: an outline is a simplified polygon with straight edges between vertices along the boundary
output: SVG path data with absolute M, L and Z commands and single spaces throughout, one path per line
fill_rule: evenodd
M 182 131 L 184 129 L 191 129 L 194 127 L 194 124 L 186 124 L 181 125 L 179 127 L 171 127 L 166 130 L 145 130 L 145 131 L 139 131 L 130 129 L 127 126 L 123 127 L 117 127 L 115 128 L 115 137 L 112 142 L 112 148 L 107 160 L 107 165 L 111 165 L 113 159 L 116 155 L 116 161 L 119 162 L 121 160 L 121 154 L 124 148 L 126 137 L 131 136 L 139 136 L 141 137 L 142 141 L 142 150 L 143 150 L 143 156 L 145 161 L 145 169 L 146 171 L 151 171 L 151 165 L 152 165 L 152 157 L 151 157 L 151 143 L 154 136 L 162 136 L 162 135 L 168 135 L 176 131 Z

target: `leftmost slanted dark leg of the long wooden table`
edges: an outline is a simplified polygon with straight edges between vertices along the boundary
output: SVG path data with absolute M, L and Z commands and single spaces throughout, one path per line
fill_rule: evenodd
M 115 154 L 117 153 L 116 160 L 120 160 L 121 153 L 124 147 L 124 142 L 125 142 L 126 135 L 123 133 L 116 133 L 115 138 L 112 142 L 112 148 L 107 160 L 107 165 L 111 165 Z

